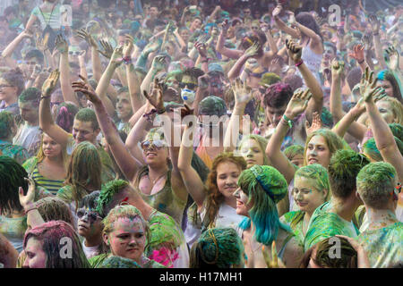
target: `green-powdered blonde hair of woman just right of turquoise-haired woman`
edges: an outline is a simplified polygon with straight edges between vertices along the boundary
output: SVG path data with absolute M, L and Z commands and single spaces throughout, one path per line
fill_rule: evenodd
M 319 191 L 323 189 L 328 190 L 325 201 L 329 201 L 331 197 L 330 193 L 330 181 L 328 171 L 322 166 L 322 164 L 308 164 L 296 170 L 296 177 L 304 177 L 308 179 L 313 179 L 315 181 L 315 188 Z

